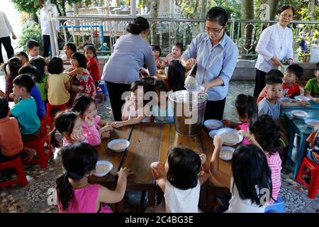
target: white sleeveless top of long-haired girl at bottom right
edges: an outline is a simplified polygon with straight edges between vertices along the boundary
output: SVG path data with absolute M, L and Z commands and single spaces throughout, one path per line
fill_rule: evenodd
M 264 213 L 265 206 L 252 204 L 251 199 L 241 199 L 233 177 L 230 180 L 230 193 L 232 198 L 229 201 L 228 210 L 225 213 Z

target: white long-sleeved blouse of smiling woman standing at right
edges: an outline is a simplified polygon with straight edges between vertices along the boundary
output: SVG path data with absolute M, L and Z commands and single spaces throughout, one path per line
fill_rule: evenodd
M 257 70 L 269 72 L 277 67 L 272 63 L 271 58 L 277 57 L 279 60 L 293 58 L 293 33 L 290 28 L 283 28 L 279 23 L 269 26 L 260 35 L 256 52 L 258 58 Z

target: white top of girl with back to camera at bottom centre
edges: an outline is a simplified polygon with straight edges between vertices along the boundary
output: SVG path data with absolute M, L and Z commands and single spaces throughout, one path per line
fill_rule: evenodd
M 199 194 L 201 183 L 197 182 L 192 189 L 181 190 L 174 187 L 169 181 L 165 184 L 165 206 L 167 213 L 198 213 Z

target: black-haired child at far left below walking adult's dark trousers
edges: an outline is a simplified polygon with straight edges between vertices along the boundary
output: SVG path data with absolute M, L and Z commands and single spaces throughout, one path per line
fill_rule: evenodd
M 13 79 L 18 76 L 18 70 L 22 67 L 22 61 L 18 57 L 11 57 L 7 63 L 3 65 L 4 74 L 6 74 L 6 99 L 13 101 L 10 94 L 13 89 Z

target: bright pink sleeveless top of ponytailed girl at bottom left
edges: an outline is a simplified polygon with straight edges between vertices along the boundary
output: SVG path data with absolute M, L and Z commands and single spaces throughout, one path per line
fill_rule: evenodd
M 96 211 L 96 200 L 99 195 L 99 184 L 89 184 L 82 189 L 73 189 L 73 197 L 69 201 L 66 211 L 62 210 L 62 205 L 58 201 L 57 206 L 60 213 L 113 213 L 104 204 L 100 204 L 99 211 Z

